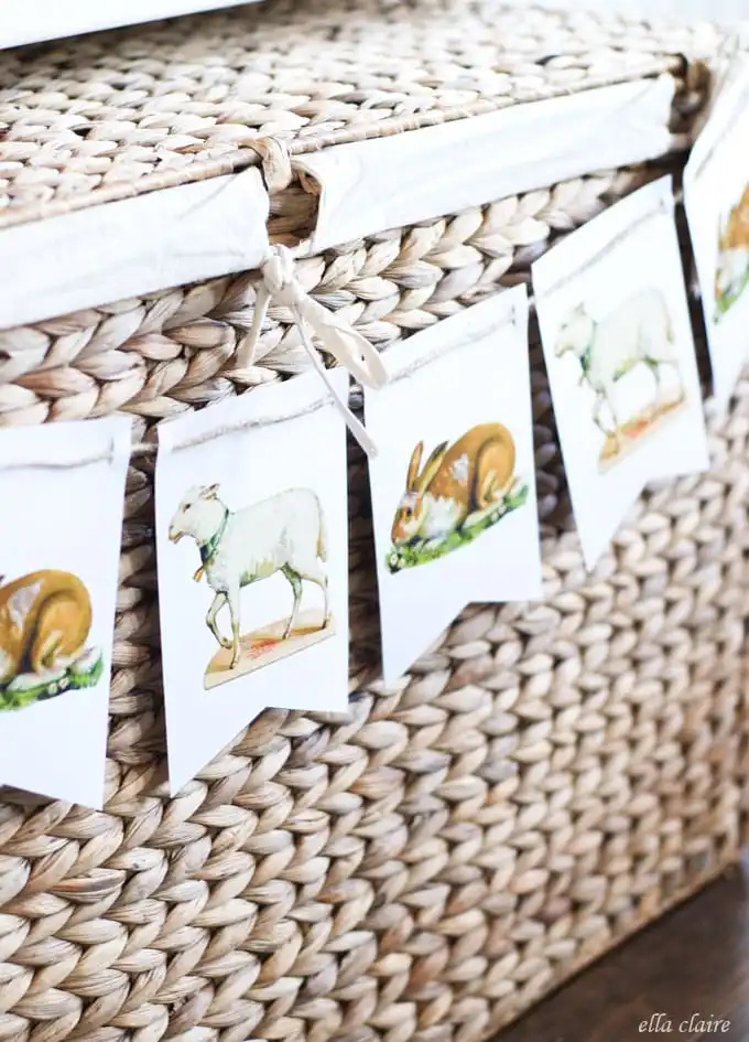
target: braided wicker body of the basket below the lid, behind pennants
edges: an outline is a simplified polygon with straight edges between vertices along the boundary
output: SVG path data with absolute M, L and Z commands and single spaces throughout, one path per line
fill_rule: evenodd
M 298 265 L 378 345 L 524 278 L 653 172 L 601 174 Z M 0 417 L 155 421 L 301 364 L 254 276 L 0 335 Z M 586 576 L 533 375 L 546 598 L 476 606 L 393 689 L 351 470 L 351 713 L 268 711 L 164 785 L 153 458 L 128 482 L 105 813 L 6 791 L 0 1039 L 473 1042 L 731 861 L 747 776 L 749 383 L 714 468 L 647 494 Z

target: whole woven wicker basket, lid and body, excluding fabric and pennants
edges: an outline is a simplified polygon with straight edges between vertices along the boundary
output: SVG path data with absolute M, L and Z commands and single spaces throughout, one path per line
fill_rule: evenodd
M 9 53 L 0 228 L 262 161 L 272 237 L 295 243 L 316 207 L 296 152 L 663 72 L 679 79 L 677 147 L 716 40 L 358 0 Z M 237 101 L 248 72 L 264 100 Z M 160 114 L 148 132 L 143 111 Z M 660 172 L 490 202 L 308 256 L 297 275 L 384 346 L 527 278 L 557 235 Z M 278 309 L 249 383 L 232 374 L 256 280 L 6 330 L 0 422 L 126 409 L 148 439 L 282 377 L 298 340 Z M 473 1042 L 736 858 L 749 380 L 710 420 L 710 473 L 645 494 L 591 576 L 538 348 L 533 399 L 544 602 L 471 608 L 386 689 L 352 449 L 350 717 L 268 711 L 172 799 L 153 459 L 133 458 L 106 809 L 2 793 L 2 1042 Z

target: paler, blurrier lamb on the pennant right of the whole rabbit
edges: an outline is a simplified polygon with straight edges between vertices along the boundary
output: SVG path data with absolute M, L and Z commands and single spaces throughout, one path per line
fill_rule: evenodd
M 576 307 L 563 323 L 556 340 L 556 357 L 568 353 L 579 363 L 580 384 L 587 383 L 595 395 L 594 422 L 615 439 L 618 448 L 622 444 L 622 417 L 619 416 L 615 389 L 634 366 L 644 365 L 653 375 L 653 415 L 661 400 L 663 367 L 676 373 L 680 397 L 683 396 L 671 320 L 659 290 L 636 293 L 600 320 L 591 318 L 585 304 Z M 604 406 L 611 413 L 612 431 L 600 418 Z

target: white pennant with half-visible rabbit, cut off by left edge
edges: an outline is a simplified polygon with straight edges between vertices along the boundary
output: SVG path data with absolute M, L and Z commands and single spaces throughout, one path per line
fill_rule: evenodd
M 127 417 L 0 431 L 0 785 L 100 808 Z

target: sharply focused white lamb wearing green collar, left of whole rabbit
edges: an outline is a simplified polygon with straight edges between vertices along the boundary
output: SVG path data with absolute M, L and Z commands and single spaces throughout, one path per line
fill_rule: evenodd
M 206 624 L 221 647 L 230 648 L 231 669 L 241 655 L 240 590 L 281 572 L 290 582 L 294 603 L 282 641 L 294 630 L 302 602 L 303 581 L 323 591 L 323 625 L 329 623 L 328 582 L 321 567 L 327 560 L 325 525 L 317 495 L 310 488 L 278 493 L 232 512 L 219 498 L 219 486 L 194 487 L 177 507 L 169 529 L 172 543 L 192 537 L 200 551 L 200 567 L 215 597 Z M 228 605 L 231 638 L 220 634 L 217 615 Z

